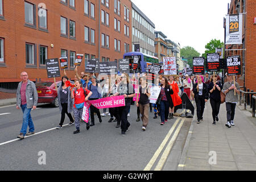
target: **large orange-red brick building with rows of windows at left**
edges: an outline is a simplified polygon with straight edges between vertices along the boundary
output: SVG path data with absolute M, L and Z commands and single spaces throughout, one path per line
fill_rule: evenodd
M 46 59 L 67 56 L 71 78 L 77 53 L 121 59 L 131 49 L 131 9 L 130 0 L 0 0 L 0 99 L 15 92 L 22 71 L 32 81 L 52 80 Z

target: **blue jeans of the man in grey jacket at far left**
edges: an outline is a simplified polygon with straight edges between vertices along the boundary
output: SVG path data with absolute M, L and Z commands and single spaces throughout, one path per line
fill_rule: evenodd
M 27 133 L 27 126 L 30 127 L 29 132 L 34 132 L 35 127 L 30 114 L 31 109 L 27 109 L 27 104 L 21 105 L 21 108 L 23 112 L 23 123 L 20 133 L 22 133 L 25 136 Z

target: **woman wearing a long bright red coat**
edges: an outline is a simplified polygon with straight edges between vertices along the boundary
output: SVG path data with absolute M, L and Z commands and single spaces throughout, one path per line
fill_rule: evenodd
M 174 94 L 171 95 L 174 106 L 172 108 L 170 107 L 168 117 L 168 119 L 171 119 L 174 118 L 174 107 L 182 104 L 182 100 L 179 96 L 179 86 L 177 86 L 177 82 L 174 81 L 174 76 L 169 77 L 169 84 L 172 86 L 172 90 L 174 90 Z

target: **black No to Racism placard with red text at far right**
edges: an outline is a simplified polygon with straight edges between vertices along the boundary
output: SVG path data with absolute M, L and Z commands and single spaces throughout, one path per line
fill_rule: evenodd
M 226 69 L 229 76 L 231 75 L 241 75 L 241 57 L 238 56 L 228 56 L 226 59 Z

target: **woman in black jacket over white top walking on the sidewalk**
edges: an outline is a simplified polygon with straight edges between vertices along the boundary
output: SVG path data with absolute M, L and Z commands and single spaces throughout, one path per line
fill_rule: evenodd
M 207 85 L 203 82 L 203 76 L 197 76 L 197 83 L 193 86 L 193 93 L 196 101 L 197 123 L 203 121 L 205 102 L 209 99 Z

